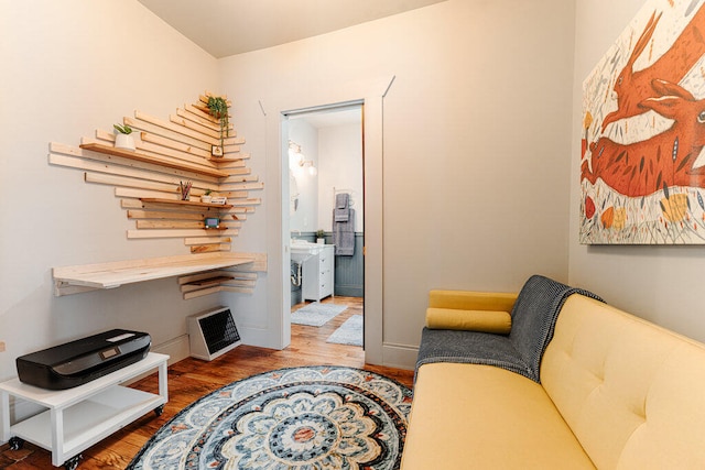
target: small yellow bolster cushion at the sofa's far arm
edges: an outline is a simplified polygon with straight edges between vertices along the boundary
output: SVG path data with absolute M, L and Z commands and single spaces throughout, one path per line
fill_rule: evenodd
M 511 316 L 509 311 L 430 307 L 426 309 L 426 327 L 508 335 L 511 330 Z

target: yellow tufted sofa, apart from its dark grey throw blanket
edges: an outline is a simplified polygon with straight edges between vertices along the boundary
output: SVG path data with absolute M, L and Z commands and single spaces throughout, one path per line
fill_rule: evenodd
M 517 299 L 433 291 L 429 314 L 505 311 L 513 323 Z M 516 326 L 501 336 L 449 325 L 434 334 L 470 335 L 468 345 L 509 341 Z M 402 470 L 705 469 L 705 345 L 576 292 L 553 328 L 533 380 L 438 351 L 417 365 Z

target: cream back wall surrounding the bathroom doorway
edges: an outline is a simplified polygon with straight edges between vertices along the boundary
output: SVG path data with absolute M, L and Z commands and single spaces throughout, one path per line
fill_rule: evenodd
M 270 175 L 279 113 L 364 98 L 365 84 L 395 76 L 383 100 L 386 363 L 413 364 L 431 288 L 567 281 L 574 13 L 565 0 L 449 0 L 220 61 L 236 127 L 267 134 L 248 142 Z M 247 250 L 283 238 L 275 179 L 272 216 L 257 222 L 268 239 L 245 236 Z M 281 254 L 269 255 L 276 271 Z M 265 300 L 270 325 L 280 300 Z

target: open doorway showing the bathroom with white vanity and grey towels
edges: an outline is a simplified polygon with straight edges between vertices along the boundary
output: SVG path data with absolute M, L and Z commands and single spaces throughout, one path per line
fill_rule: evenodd
M 356 101 L 285 112 L 281 135 L 291 323 L 364 348 L 362 109 Z

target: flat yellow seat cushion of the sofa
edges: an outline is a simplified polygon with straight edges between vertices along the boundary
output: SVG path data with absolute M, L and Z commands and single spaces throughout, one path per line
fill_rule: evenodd
M 594 469 L 536 382 L 490 365 L 419 369 L 403 470 Z

